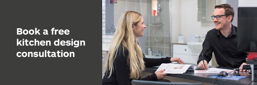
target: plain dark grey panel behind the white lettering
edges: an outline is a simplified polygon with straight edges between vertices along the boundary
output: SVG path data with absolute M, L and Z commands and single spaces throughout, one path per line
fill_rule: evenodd
M 101 84 L 101 2 L 91 1 L 1 1 L 0 84 Z M 51 35 L 53 27 L 69 29 L 70 34 Z M 41 35 L 17 35 L 17 28 L 37 28 Z M 43 35 L 44 29 L 49 35 Z M 17 39 L 49 40 L 51 46 L 17 46 Z M 57 39 L 83 40 L 86 44 L 77 48 L 55 46 Z M 17 52 L 45 50 L 75 52 L 75 57 L 16 56 Z

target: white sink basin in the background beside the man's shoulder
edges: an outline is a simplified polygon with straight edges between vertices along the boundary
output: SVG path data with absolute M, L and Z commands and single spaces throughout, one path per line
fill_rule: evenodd
M 188 42 L 187 45 L 193 52 L 201 52 L 202 43 L 203 42 Z

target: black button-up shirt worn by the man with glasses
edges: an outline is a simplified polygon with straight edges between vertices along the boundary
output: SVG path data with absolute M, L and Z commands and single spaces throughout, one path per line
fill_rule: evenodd
M 202 61 L 202 54 L 203 59 L 209 63 L 212 59 L 212 52 L 214 52 L 220 67 L 239 68 L 242 63 L 246 62 L 246 56 L 244 52 L 237 51 L 237 31 L 237 27 L 234 25 L 232 25 L 232 32 L 228 37 L 224 37 L 220 30 L 215 28 L 208 31 L 197 63 Z

